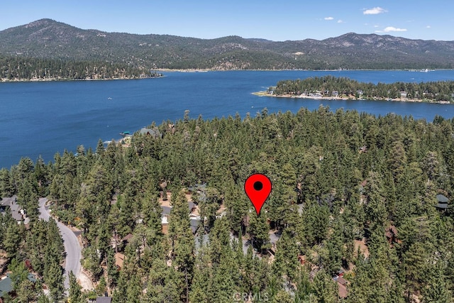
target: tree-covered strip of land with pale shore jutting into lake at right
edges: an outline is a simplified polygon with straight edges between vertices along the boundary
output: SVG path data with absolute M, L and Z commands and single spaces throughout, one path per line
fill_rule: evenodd
M 258 96 L 327 99 L 387 100 L 408 102 L 454 103 L 454 81 L 378 84 L 358 82 L 347 77 L 310 77 L 282 80 Z

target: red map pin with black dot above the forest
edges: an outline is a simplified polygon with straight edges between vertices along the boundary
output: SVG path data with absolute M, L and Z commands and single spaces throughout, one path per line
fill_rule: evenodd
M 271 180 L 265 175 L 250 175 L 244 184 L 244 191 L 250 202 L 253 202 L 257 215 L 260 214 L 263 204 L 271 193 Z

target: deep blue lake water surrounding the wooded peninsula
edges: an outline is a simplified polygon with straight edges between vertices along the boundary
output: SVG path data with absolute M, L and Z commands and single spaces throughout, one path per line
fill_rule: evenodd
M 282 79 L 333 75 L 360 82 L 427 82 L 454 80 L 454 70 L 408 71 L 231 71 L 167 72 L 160 79 L 0 83 L 0 167 L 11 167 L 21 157 L 45 162 L 57 152 L 77 145 L 96 147 L 99 139 L 118 139 L 121 131 L 136 131 L 153 121 L 204 119 L 268 111 L 314 110 L 320 104 L 335 111 L 370 114 L 395 113 L 432 121 L 454 117 L 454 105 L 387 101 L 326 101 L 256 97 L 251 94 Z

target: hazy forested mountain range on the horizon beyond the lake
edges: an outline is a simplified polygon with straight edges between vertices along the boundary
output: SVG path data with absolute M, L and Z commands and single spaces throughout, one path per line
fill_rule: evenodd
M 0 31 L 0 55 L 104 61 L 145 69 L 454 68 L 454 41 L 347 33 L 325 40 L 275 42 L 82 30 L 42 19 Z

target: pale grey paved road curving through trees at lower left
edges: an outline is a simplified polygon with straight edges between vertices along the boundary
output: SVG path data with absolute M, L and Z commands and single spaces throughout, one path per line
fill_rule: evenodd
M 45 221 L 49 221 L 50 214 L 48 209 L 45 207 L 45 203 L 48 202 L 47 198 L 40 199 L 40 218 Z M 57 226 L 62 234 L 63 243 L 65 244 L 66 251 L 66 263 L 65 263 L 65 288 L 70 288 L 69 272 L 72 271 L 78 278 L 80 275 L 80 259 L 81 259 L 81 247 L 76 235 L 70 228 L 57 221 Z

